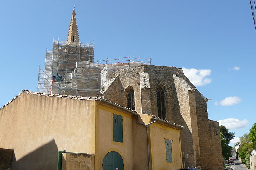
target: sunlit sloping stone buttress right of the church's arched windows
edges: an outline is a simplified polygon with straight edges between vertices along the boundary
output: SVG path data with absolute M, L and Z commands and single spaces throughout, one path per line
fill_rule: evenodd
M 177 115 L 178 124 L 182 124 L 186 129 L 181 131 L 182 152 L 188 154 L 185 160 L 185 166 L 200 166 L 200 149 L 198 139 L 197 117 L 195 92 L 189 91 L 190 88 L 182 82 L 178 76 L 174 76 L 177 98 L 179 101 L 180 115 Z M 182 122 L 180 121 L 182 120 Z

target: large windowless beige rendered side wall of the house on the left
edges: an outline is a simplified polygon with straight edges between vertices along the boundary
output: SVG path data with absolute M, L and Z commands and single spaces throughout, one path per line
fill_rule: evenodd
M 21 93 L 0 110 L 0 148 L 13 169 L 57 168 L 58 151 L 94 154 L 94 100 Z

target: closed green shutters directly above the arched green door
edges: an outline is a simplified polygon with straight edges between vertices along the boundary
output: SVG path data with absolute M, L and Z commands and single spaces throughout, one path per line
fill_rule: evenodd
M 123 116 L 113 114 L 113 141 L 123 142 Z

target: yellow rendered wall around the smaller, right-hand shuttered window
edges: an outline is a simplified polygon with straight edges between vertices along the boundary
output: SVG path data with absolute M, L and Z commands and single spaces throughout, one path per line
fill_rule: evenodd
M 158 122 L 151 124 L 149 129 L 152 169 L 169 170 L 183 167 L 179 130 Z M 166 162 L 165 139 L 172 141 L 172 163 Z

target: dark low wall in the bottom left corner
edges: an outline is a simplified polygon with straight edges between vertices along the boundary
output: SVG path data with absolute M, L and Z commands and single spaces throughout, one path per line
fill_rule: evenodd
M 11 170 L 13 149 L 0 148 L 0 170 Z

